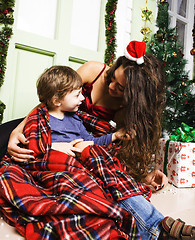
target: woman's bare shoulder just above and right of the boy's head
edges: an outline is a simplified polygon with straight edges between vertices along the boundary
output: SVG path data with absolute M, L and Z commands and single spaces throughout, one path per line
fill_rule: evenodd
M 83 83 L 91 83 L 101 72 L 104 64 L 101 62 L 89 61 L 77 69 Z

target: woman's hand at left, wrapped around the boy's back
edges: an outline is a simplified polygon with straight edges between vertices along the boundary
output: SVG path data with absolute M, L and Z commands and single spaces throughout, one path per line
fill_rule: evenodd
M 21 143 L 26 145 L 28 144 L 28 141 L 21 132 L 17 131 L 16 129 L 13 130 L 7 147 L 7 151 L 11 158 L 18 162 L 34 159 L 34 156 L 32 156 L 34 152 L 32 150 L 19 147 L 18 145 Z

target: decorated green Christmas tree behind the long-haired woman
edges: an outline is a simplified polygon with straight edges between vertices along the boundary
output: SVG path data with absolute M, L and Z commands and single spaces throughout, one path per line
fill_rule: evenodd
M 166 107 L 163 116 L 163 129 L 172 133 L 182 122 L 195 124 L 195 97 L 193 80 L 185 70 L 187 61 L 178 40 L 176 28 L 169 28 L 168 2 L 160 0 L 156 25 L 158 31 L 148 43 L 151 52 L 164 63 L 166 73 Z

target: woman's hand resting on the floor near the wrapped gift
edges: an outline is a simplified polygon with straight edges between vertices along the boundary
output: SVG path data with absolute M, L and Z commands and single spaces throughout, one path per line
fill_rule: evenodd
M 146 176 L 145 183 L 151 185 L 157 191 L 167 186 L 168 178 L 160 170 L 154 170 Z

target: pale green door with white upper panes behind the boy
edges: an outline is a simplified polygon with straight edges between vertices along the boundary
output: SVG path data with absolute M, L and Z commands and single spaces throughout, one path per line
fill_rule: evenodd
M 14 34 L 9 44 L 5 83 L 0 89 L 0 99 L 6 104 L 3 122 L 24 117 L 37 105 L 36 81 L 44 69 L 52 65 L 68 65 L 76 70 L 85 61 L 103 61 L 106 0 L 82 0 L 90 6 L 89 9 L 93 9 L 94 3 L 99 8 L 96 13 L 99 17 L 98 23 L 94 23 L 98 24 L 95 48 L 86 48 L 74 41 L 71 42 L 71 32 L 76 34 L 75 38 L 88 37 L 82 31 L 80 33 L 71 31 L 71 28 L 79 23 L 80 16 L 74 14 L 74 18 L 76 16 L 77 19 L 74 19 L 72 24 L 73 3 L 77 1 L 16 0 Z M 51 9 L 53 9 L 52 13 Z M 82 9 L 80 11 L 82 12 Z M 48 12 L 50 15 L 47 14 Z M 85 11 L 84 20 L 87 21 L 88 18 L 90 21 L 91 14 L 90 11 Z

